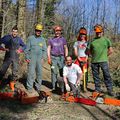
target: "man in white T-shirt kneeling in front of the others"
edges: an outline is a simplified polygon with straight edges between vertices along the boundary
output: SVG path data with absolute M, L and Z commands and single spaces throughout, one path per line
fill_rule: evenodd
M 74 96 L 77 95 L 77 87 L 80 85 L 82 79 L 81 68 L 72 63 L 72 58 L 67 56 L 65 58 L 66 65 L 63 68 L 63 80 L 65 83 L 66 91 L 71 91 Z

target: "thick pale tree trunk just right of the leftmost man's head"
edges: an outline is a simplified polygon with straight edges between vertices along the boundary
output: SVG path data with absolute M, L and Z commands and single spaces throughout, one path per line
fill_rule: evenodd
M 18 21 L 17 26 L 20 36 L 23 40 L 26 40 L 26 22 L 25 22 L 25 13 L 26 13 L 26 0 L 18 0 Z

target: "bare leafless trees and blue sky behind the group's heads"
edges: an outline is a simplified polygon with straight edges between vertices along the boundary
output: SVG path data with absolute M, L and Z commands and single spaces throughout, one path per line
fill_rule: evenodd
M 74 41 L 80 27 L 88 29 L 89 39 L 96 23 L 114 42 L 120 38 L 120 0 L 0 0 L 0 35 L 10 32 L 17 24 L 20 36 L 26 41 L 34 25 L 44 25 L 43 36 L 52 35 L 52 26 L 63 26 L 68 43 Z

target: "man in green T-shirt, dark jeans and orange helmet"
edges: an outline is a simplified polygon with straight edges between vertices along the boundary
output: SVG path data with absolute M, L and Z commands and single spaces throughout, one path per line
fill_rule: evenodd
M 99 24 L 94 26 L 95 38 L 87 47 L 86 53 L 91 54 L 91 68 L 95 82 L 95 91 L 103 92 L 100 87 L 99 69 L 103 72 L 104 82 L 110 96 L 113 96 L 112 80 L 109 73 L 108 56 L 112 53 L 111 41 L 103 36 L 103 27 Z

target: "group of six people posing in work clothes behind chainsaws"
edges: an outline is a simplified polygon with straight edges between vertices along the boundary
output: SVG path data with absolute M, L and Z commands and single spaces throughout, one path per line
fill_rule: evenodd
M 87 30 L 81 27 L 74 43 L 74 55 L 76 57 L 73 62 L 69 56 L 67 41 L 62 36 L 62 27 L 57 25 L 53 27 L 54 37 L 48 40 L 48 46 L 41 33 L 43 26 L 37 24 L 35 26 L 35 34 L 28 37 L 27 43 L 18 37 L 18 28 L 14 26 L 11 34 L 5 35 L 0 39 L 0 50 L 6 51 L 2 67 L 0 69 L 0 85 L 2 85 L 3 77 L 10 64 L 12 64 L 12 78 L 9 82 L 10 88 L 14 91 L 14 81 L 17 80 L 19 54 L 25 53 L 25 61 L 28 63 L 28 75 L 26 89 L 29 93 L 33 87 L 39 93 L 42 83 L 42 63 L 45 59 L 51 67 L 52 90 L 56 90 L 59 85 L 61 94 L 65 91 L 71 91 L 76 95 L 76 89 L 80 85 L 83 77 L 82 63 L 88 65 L 88 56 L 91 56 L 91 68 L 95 83 L 95 91 L 101 90 L 99 70 L 103 72 L 104 82 L 108 94 L 113 96 L 112 80 L 109 73 L 108 56 L 112 53 L 111 41 L 103 36 L 103 27 L 95 25 L 95 38 L 87 41 Z M 4 46 L 2 46 L 4 44 Z M 35 79 L 36 76 L 36 79 Z M 61 79 L 59 79 L 61 78 Z

